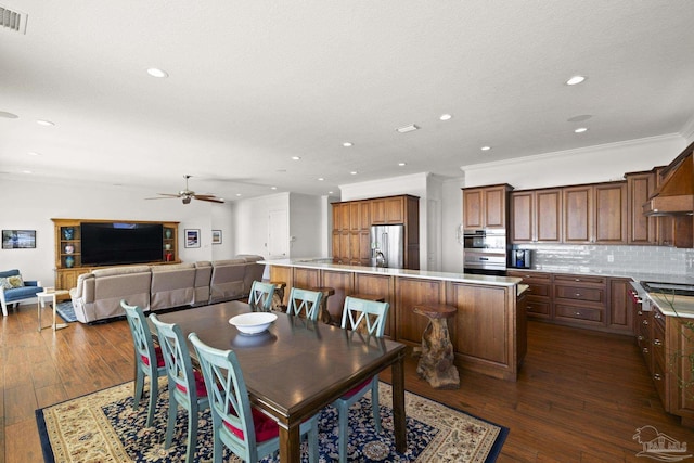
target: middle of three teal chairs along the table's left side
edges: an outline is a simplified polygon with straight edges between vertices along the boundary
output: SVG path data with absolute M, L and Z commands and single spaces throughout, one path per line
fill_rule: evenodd
M 178 414 L 178 407 L 181 406 L 188 410 L 185 462 L 193 463 L 195 460 L 195 447 L 197 447 L 198 413 L 209 407 L 205 380 L 200 372 L 193 370 L 191 356 L 181 327 L 175 323 L 162 322 L 155 313 L 150 314 L 150 320 L 156 327 L 169 381 L 169 413 L 166 422 L 164 448 L 168 449 L 171 446 L 176 415 Z

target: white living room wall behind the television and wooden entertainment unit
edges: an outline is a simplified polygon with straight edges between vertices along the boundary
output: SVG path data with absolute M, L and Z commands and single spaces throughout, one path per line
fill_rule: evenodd
M 0 215 L 2 230 L 36 230 L 36 249 L 0 249 L 0 269 L 17 268 L 27 280 L 40 280 L 46 286 L 55 283 L 54 233 L 51 218 L 179 221 L 179 255 L 183 261 L 211 260 L 213 217 L 215 228 L 227 229 L 231 206 L 179 200 L 146 201 L 151 191 L 116 185 L 3 180 L 0 196 L 11 198 L 11 207 Z M 7 203 L 5 203 L 7 204 Z M 215 210 L 215 214 L 213 214 Z M 183 246 L 183 230 L 201 231 L 201 247 Z

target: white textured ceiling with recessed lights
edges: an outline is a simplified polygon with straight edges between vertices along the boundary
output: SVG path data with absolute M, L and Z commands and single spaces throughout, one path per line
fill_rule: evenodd
M 0 179 L 154 194 L 190 173 L 191 189 L 227 200 L 338 195 L 346 183 L 677 133 L 694 116 L 690 0 L 0 5 L 28 14 L 25 35 L 0 30 L 0 112 L 18 116 L 0 117 Z M 566 86 L 576 74 L 588 80 Z M 592 117 L 568 120 L 581 115 Z M 395 130 L 410 124 L 421 129 Z

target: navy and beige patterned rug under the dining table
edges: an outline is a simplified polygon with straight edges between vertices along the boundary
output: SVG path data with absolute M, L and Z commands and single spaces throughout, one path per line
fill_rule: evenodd
M 174 443 L 164 449 L 168 397 L 159 397 L 153 427 L 144 427 L 146 401 L 132 410 L 132 383 L 36 411 L 46 462 L 179 462 L 185 454 L 187 415 L 180 410 Z M 390 386 L 381 383 L 381 403 L 391 403 Z M 349 461 L 352 462 L 493 462 L 507 428 L 406 393 L 408 449 L 395 450 L 393 412 L 381 406 L 383 432 L 373 428 L 368 394 L 349 415 Z M 209 411 L 200 415 L 196 462 L 213 459 Z M 306 442 L 303 461 L 308 461 Z M 337 412 L 329 407 L 319 417 L 320 462 L 337 460 Z M 240 462 L 226 449 L 224 462 Z M 262 462 L 275 462 L 268 456 Z

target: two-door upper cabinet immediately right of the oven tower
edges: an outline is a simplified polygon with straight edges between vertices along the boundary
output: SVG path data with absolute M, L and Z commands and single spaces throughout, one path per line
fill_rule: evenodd
M 511 193 L 511 242 L 562 242 L 562 190 Z

